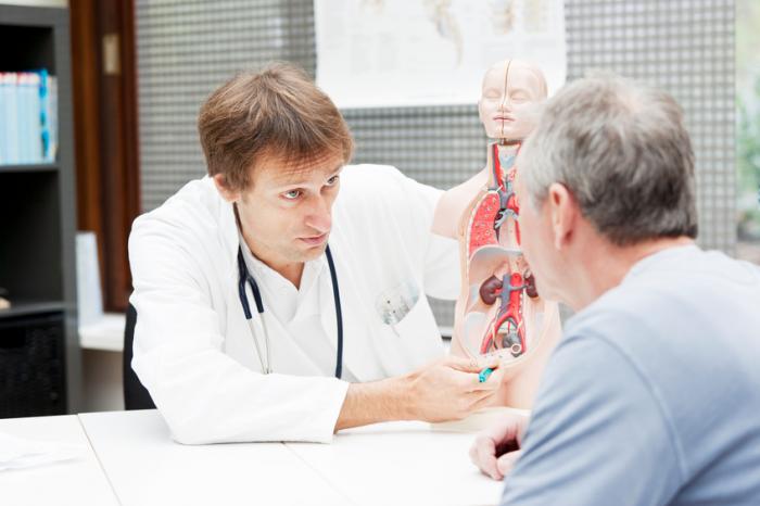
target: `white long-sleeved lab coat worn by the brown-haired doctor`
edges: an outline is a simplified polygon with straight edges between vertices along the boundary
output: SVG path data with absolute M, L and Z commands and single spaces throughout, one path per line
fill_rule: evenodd
M 402 375 L 443 353 L 423 295 L 453 300 L 459 290 L 456 241 L 430 233 L 441 193 L 389 166 L 342 172 L 329 244 L 342 302 L 343 369 L 358 381 Z M 261 374 L 238 296 L 238 241 L 232 206 L 208 177 L 135 220 L 132 367 L 179 442 L 329 442 L 349 383 L 324 376 L 269 313 L 275 374 Z M 379 296 L 408 293 L 409 281 L 421 295 L 393 329 L 382 321 Z M 335 356 L 327 268 L 317 282 Z

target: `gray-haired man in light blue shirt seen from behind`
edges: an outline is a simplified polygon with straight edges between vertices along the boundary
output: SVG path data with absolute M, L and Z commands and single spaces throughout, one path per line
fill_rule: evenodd
M 694 242 L 679 105 L 575 81 L 517 166 L 536 288 L 578 314 L 531 419 L 506 416 L 471 450 L 506 476 L 503 504 L 760 504 L 760 269 Z

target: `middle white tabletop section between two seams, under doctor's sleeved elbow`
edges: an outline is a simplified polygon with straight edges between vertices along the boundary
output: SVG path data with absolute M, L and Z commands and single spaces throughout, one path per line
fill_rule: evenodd
M 153 409 L 79 419 L 122 506 L 352 504 L 281 443 L 177 444 Z

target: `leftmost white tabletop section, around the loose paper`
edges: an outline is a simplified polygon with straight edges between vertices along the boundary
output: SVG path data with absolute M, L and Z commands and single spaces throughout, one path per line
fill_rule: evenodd
M 0 432 L 81 448 L 71 460 L 0 471 L 3 505 L 118 505 L 76 416 L 4 419 Z

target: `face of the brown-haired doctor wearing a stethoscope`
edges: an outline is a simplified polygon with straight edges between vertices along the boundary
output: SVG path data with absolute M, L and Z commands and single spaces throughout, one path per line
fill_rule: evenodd
M 293 170 L 276 159 L 259 163 L 236 203 L 251 251 L 271 267 L 321 255 L 332 227 L 343 159 L 317 160 Z

